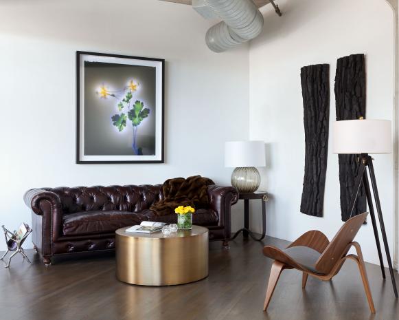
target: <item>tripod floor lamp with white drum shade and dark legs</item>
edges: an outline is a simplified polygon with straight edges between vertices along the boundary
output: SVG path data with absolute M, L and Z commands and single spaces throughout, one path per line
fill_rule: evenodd
M 392 153 L 391 140 L 391 121 L 389 120 L 342 120 L 334 122 L 333 124 L 333 152 L 339 154 L 358 154 L 358 161 L 360 167 L 358 175 L 355 179 L 354 193 L 351 198 L 351 212 L 350 217 L 354 214 L 354 206 L 358 192 L 361 189 L 362 183 L 365 186 L 365 193 L 367 204 L 369 206 L 370 217 L 372 220 L 374 237 L 378 250 L 378 258 L 380 259 L 381 272 L 385 279 L 385 268 L 383 262 L 383 255 L 381 253 L 380 239 L 378 237 L 378 229 L 376 224 L 376 216 L 374 214 L 374 206 L 372 201 L 372 193 L 367 176 L 369 170 L 370 181 L 372 182 L 372 190 L 374 193 L 374 200 L 377 209 L 378 220 L 380 222 L 381 234 L 383 236 L 383 243 L 385 247 L 385 254 L 387 255 L 389 273 L 391 274 L 392 286 L 394 287 L 395 297 L 398 298 L 398 290 L 396 288 L 396 281 L 394 277 L 394 268 L 392 268 L 391 255 L 389 253 L 389 246 L 387 241 L 387 234 L 385 233 L 385 225 L 383 213 L 381 211 L 380 197 L 378 196 L 376 175 L 374 174 L 373 158 L 369 153 Z

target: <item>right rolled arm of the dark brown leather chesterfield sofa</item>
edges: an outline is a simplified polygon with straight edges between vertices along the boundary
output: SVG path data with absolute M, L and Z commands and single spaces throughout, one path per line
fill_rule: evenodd
M 209 205 L 219 216 L 219 226 L 225 228 L 226 237 L 231 233 L 231 206 L 238 202 L 238 191 L 233 186 L 208 186 Z

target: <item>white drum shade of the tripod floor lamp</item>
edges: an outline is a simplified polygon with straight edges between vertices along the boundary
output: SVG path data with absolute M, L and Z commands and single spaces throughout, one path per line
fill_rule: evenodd
M 333 153 L 391 153 L 392 136 L 389 120 L 341 120 L 334 122 Z

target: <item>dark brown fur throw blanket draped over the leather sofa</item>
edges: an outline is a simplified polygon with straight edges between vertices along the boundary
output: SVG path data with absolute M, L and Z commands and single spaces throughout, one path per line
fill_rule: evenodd
M 150 210 L 157 215 L 174 214 L 177 206 L 193 206 L 195 209 L 206 208 L 209 204 L 207 189 L 215 184 L 201 175 L 185 178 L 173 178 L 163 182 L 163 200 L 155 202 Z

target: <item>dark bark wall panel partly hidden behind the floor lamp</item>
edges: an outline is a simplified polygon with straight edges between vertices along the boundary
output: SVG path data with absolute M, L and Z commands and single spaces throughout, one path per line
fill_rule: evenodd
M 353 120 L 366 114 L 366 72 L 364 54 L 352 54 L 337 60 L 335 74 L 335 109 L 338 120 Z M 346 221 L 350 217 L 351 196 L 354 180 L 358 173 L 357 156 L 340 154 L 339 183 L 341 197 L 341 217 Z M 362 184 L 353 215 L 366 211 L 365 188 Z

